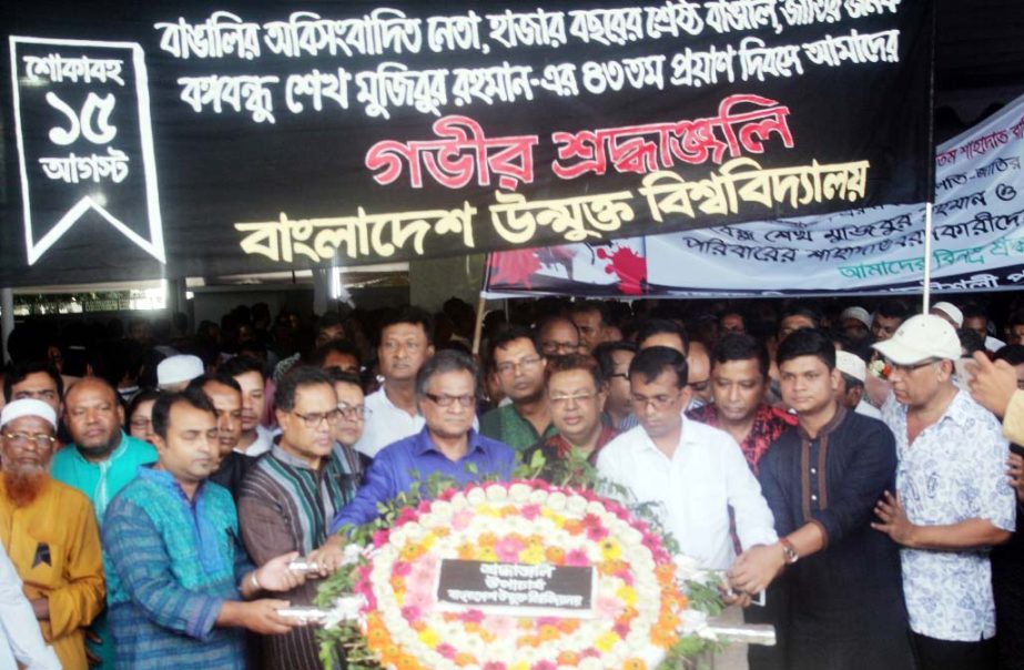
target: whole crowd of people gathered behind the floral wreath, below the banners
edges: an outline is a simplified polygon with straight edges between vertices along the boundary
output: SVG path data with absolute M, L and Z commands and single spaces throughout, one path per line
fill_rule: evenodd
M 0 409 L 0 667 L 321 668 L 288 616 L 417 481 L 655 510 L 753 670 L 1024 668 L 1024 311 L 452 300 L 19 326 Z M 19 332 L 20 331 L 20 332 Z

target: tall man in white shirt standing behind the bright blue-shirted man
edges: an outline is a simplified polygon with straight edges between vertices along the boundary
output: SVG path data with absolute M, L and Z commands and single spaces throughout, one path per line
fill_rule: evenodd
M 366 426 L 357 451 L 373 458 L 387 445 L 419 433 L 425 423 L 416 406 L 416 374 L 434 355 L 430 315 L 403 307 L 384 322 L 377 361 L 384 384 L 366 396 Z

